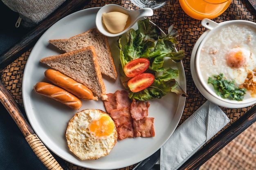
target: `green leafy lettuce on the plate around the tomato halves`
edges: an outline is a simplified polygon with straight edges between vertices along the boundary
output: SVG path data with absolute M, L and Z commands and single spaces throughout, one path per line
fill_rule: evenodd
M 155 75 L 155 81 L 148 88 L 133 93 L 130 91 L 129 97 L 145 101 L 154 98 L 161 98 L 167 93 L 173 92 L 178 95 L 187 96 L 175 80 L 179 76 L 179 71 L 170 67 L 164 67 L 166 57 L 175 62 L 180 62 L 184 58 L 184 51 L 174 52 L 178 35 L 173 30 L 173 25 L 168 28 L 168 34 L 161 35 L 160 29 L 152 24 L 149 19 L 139 20 L 138 29 L 130 29 L 126 36 L 119 37 L 120 50 L 120 73 L 121 82 L 128 89 L 127 82 L 130 79 L 124 74 L 124 66 L 137 58 L 147 58 L 150 66 L 147 73 Z

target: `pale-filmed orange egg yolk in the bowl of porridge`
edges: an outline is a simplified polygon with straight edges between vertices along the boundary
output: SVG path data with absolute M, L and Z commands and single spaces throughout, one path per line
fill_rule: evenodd
M 227 65 L 229 67 L 240 68 L 245 64 L 245 62 L 246 62 L 245 54 L 240 48 L 232 49 L 227 54 Z

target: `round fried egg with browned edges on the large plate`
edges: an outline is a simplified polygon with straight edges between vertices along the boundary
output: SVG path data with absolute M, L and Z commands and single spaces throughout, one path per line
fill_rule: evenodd
M 117 143 L 117 130 L 104 111 L 85 109 L 70 119 L 65 137 L 70 151 L 79 159 L 99 159 L 108 155 Z

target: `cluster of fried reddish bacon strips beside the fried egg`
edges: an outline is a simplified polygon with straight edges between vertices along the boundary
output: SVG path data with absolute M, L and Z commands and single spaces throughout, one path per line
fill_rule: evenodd
M 107 113 L 115 121 L 118 139 L 154 137 L 154 118 L 148 116 L 149 102 L 130 100 L 127 91 L 108 93 L 104 101 Z

